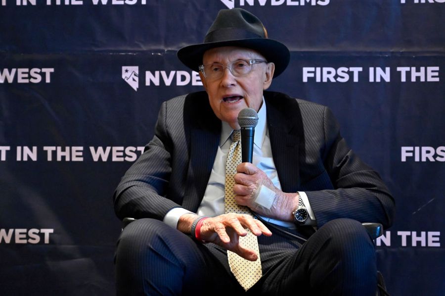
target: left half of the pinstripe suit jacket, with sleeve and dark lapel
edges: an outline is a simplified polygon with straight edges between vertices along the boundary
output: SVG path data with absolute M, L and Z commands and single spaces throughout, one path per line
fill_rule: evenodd
M 196 211 L 212 170 L 220 132 L 221 121 L 213 114 L 205 93 L 164 102 L 155 136 L 116 189 L 117 216 L 161 220 L 179 205 Z

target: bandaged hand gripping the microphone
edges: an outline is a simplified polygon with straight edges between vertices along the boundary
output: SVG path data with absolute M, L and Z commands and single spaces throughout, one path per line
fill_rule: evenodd
M 248 206 L 253 211 L 283 221 L 293 221 L 292 211 L 298 205 L 297 193 L 284 193 L 276 188 L 266 173 L 249 162 L 243 162 L 236 168 L 233 186 L 235 201 Z M 270 207 L 255 202 L 262 186 L 267 187 L 272 195 Z M 274 193 L 274 195 L 273 195 Z

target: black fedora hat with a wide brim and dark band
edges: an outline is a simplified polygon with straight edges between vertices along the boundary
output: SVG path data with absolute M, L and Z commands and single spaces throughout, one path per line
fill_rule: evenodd
M 207 31 L 204 43 L 179 49 L 178 58 L 184 65 L 198 72 L 204 52 L 224 46 L 260 52 L 268 62 L 275 64 L 274 77 L 286 69 L 290 59 L 289 49 L 278 41 L 268 39 L 266 28 L 258 17 L 242 8 L 220 10 Z

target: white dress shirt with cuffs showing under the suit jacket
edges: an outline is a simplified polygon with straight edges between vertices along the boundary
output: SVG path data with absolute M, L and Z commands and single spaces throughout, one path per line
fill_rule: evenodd
M 227 152 L 230 148 L 232 128 L 228 123 L 222 123 L 220 145 L 213 164 L 212 173 L 210 174 L 204 197 L 198 208 L 198 216 L 215 217 L 224 213 L 224 183 L 225 183 L 225 162 L 227 160 Z M 252 163 L 263 170 L 267 177 L 272 181 L 273 185 L 281 190 L 280 181 L 276 172 L 275 164 L 272 158 L 272 149 L 270 148 L 270 139 L 267 130 L 266 103 L 263 98 L 263 104 L 258 111 L 258 124 L 255 127 L 254 151 Z M 315 216 L 309 204 L 308 197 L 304 192 L 299 192 L 303 203 L 308 209 L 312 220 Z M 170 210 L 164 217 L 164 222 L 173 228 L 177 228 L 179 217 L 190 211 L 177 207 Z M 266 221 L 289 228 L 295 228 L 292 222 L 276 220 L 259 215 Z

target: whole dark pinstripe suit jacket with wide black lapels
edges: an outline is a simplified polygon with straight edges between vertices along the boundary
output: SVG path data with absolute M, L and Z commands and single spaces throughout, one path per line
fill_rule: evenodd
M 379 175 L 348 148 L 331 111 L 265 92 L 273 160 L 284 192 L 305 191 L 318 227 L 335 218 L 392 224 L 394 200 Z M 197 211 L 220 142 L 207 94 L 162 104 L 153 140 L 114 195 L 118 217 L 162 220 L 172 208 Z

